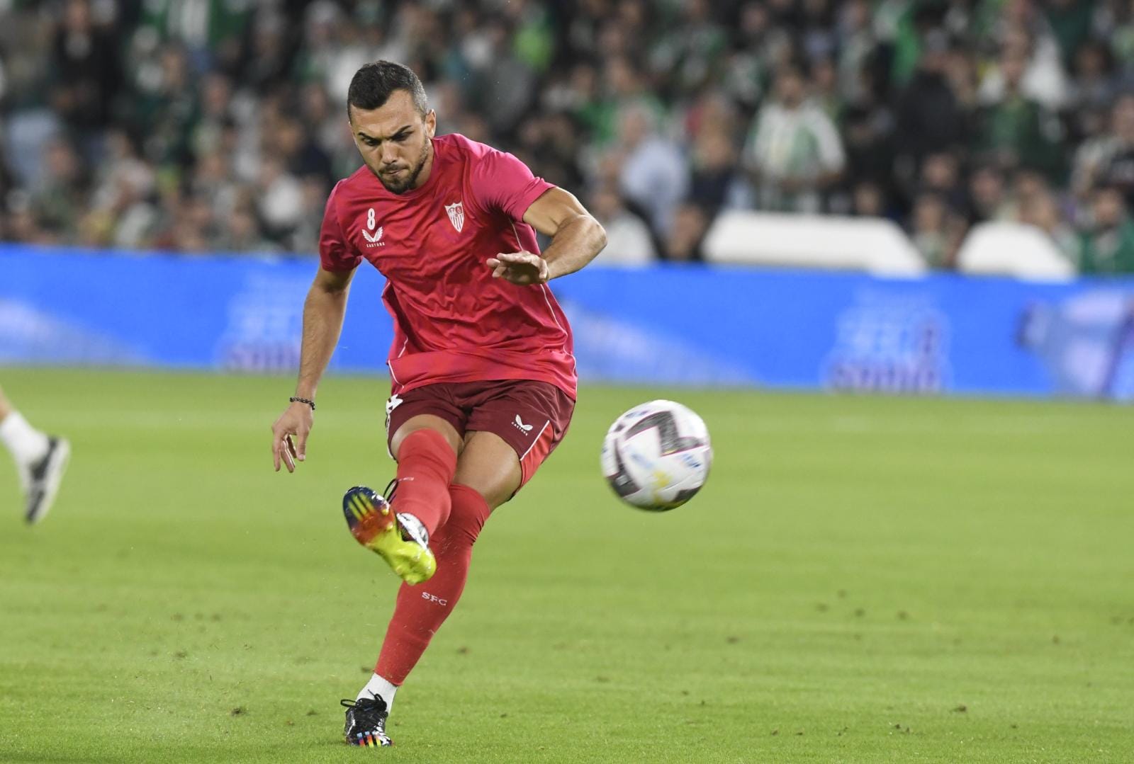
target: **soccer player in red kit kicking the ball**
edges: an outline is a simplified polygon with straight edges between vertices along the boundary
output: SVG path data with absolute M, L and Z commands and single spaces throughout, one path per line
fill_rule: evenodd
M 362 67 L 347 114 L 365 167 L 327 201 L 299 379 L 272 426 L 272 458 L 277 472 L 306 458 L 315 388 L 367 260 L 387 279 L 395 325 L 386 418 L 398 466 L 384 496 L 356 486 L 342 509 L 404 583 L 373 677 L 342 704 L 347 742 L 388 746 L 395 694 L 460 597 L 484 521 L 567 431 L 572 334 L 547 282 L 586 265 L 606 234 L 511 154 L 434 137 L 437 116 L 404 66 Z M 542 255 L 535 231 L 551 237 Z

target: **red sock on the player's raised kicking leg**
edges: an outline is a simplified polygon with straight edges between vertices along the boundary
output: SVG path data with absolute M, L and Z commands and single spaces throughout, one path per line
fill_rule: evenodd
M 449 517 L 449 482 L 456 472 L 457 455 L 445 435 L 435 430 L 413 431 L 398 447 L 393 511 L 416 517 L 432 538 Z

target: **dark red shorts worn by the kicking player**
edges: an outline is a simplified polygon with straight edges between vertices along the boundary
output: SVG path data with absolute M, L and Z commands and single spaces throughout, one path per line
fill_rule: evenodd
M 521 485 L 567 434 L 575 401 L 553 384 L 531 380 L 438 382 L 390 396 L 386 402 L 386 443 L 418 414 L 439 416 L 464 438 L 491 432 L 519 457 Z M 393 456 L 392 452 L 390 456 Z

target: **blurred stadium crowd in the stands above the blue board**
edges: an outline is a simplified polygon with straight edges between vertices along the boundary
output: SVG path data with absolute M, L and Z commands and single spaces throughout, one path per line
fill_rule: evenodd
M 882 215 L 949 269 L 984 220 L 1134 272 L 1134 3 L 3 0 L 2 238 L 310 254 L 359 167 L 350 76 L 581 196 L 607 262 L 723 209 Z

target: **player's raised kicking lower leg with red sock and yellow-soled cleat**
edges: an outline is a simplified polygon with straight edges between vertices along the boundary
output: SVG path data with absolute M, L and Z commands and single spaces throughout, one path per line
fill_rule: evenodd
M 381 554 L 407 584 L 428 580 L 437 568 L 430 537 L 449 516 L 449 482 L 459 443 L 456 428 L 446 419 L 432 414 L 413 416 L 391 441 L 398 475 L 388 495 L 355 486 L 342 496 L 342 512 L 355 540 Z

